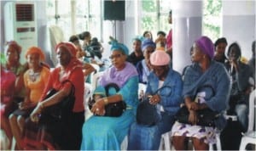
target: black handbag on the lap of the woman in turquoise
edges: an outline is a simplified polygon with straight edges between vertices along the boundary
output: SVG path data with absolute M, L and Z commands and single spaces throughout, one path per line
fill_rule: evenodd
M 109 96 L 109 89 L 114 88 L 116 92 L 119 91 L 119 86 L 115 83 L 109 83 L 107 86 L 105 86 L 105 91 L 107 97 Z M 88 107 L 89 109 L 92 108 L 93 104 L 96 103 L 96 100 L 93 98 L 90 98 L 88 101 Z M 108 103 L 108 105 L 105 105 L 105 115 L 104 116 L 112 116 L 112 117 L 119 117 L 123 114 L 123 112 L 126 109 L 126 103 L 125 101 L 119 101 L 116 103 Z

